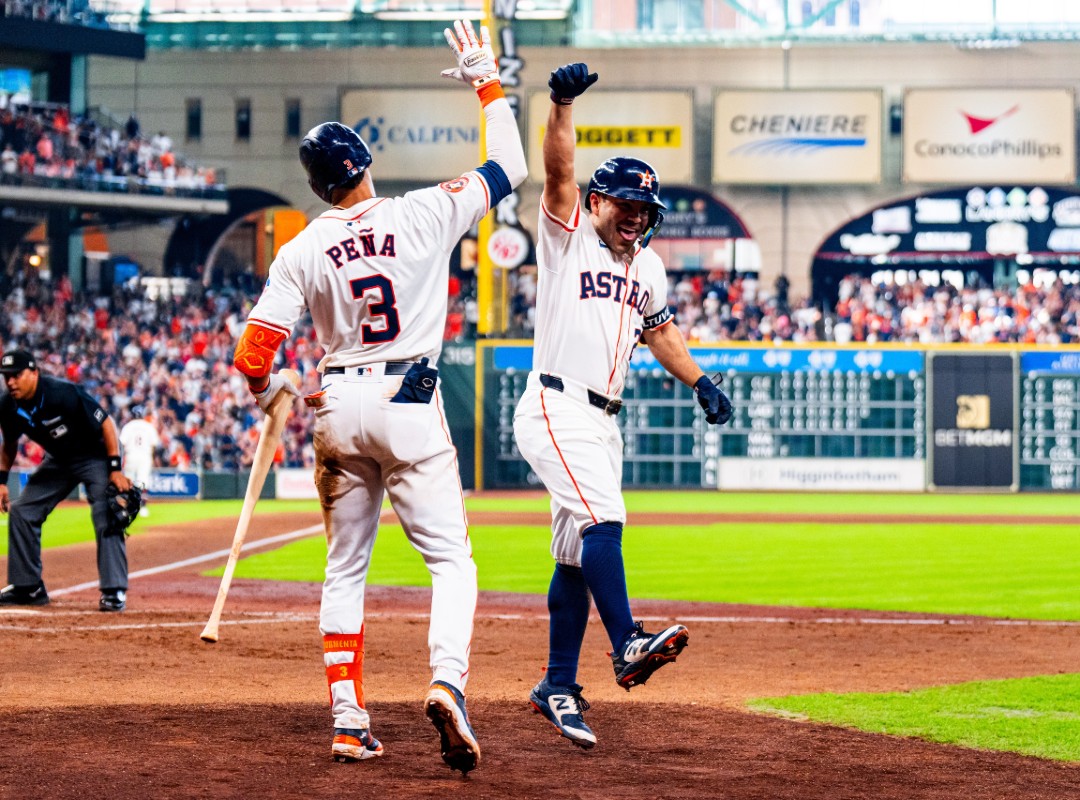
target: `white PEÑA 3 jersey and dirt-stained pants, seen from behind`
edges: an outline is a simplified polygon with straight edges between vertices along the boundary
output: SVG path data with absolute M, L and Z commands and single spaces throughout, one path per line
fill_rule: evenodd
M 488 157 L 516 186 L 526 166 L 510 106 L 491 101 L 485 114 Z M 485 170 L 330 208 L 281 248 L 249 316 L 287 335 L 307 307 L 326 351 L 323 391 L 309 404 L 328 541 L 320 626 L 335 728 L 369 723 L 350 670 L 363 660 L 364 587 L 384 491 L 431 573 L 433 679 L 463 690 L 468 678 L 476 567 L 442 395 L 391 398 L 410 363 L 438 360 L 450 252 L 498 200 Z

